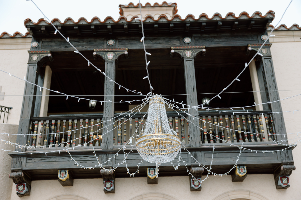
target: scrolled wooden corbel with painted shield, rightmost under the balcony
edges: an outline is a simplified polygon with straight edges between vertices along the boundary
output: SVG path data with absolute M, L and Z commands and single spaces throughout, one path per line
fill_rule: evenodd
M 282 161 L 282 165 L 274 172 L 276 189 L 287 189 L 290 187 L 290 175 L 295 169 L 293 160 Z

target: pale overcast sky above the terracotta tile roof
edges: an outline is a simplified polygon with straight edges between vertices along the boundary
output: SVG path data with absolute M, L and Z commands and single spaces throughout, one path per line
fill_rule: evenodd
M 58 18 L 62 22 L 67 17 L 71 17 L 77 21 L 80 17 L 85 17 L 90 21 L 94 16 L 98 16 L 102 21 L 106 16 L 112 16 L 115 20 L 119 18 L 119 4 L 128 4 L 128 0 L 34 0 L 49 19 Z M 139 1 L 133 1 L 137 4 Z M 144 1 L 144 5 L 150 2 L 152 5 L 155 2 L 162 3 L 162 1 Z M 169 1 L 168 1 L 169 2 Z M 234 12 L 238 16 L 241 12 L 246 11 L 252 15 L 255 11 L 260 11 L 263 15 L 268 10 L 275 12 L 275 19 L 272 25 L 276 25 L 290 0 L 176 0 L 172 1 L 178 4 L 178 14 L 185 18 L 187 14 L 193 14 L 196 18 L 201 13 L 206 13 L 212 17 L 214 13 L 218 12 L 223 17 L 228 12 Z M 293 0 L 290 7 L 287 9 L 280 24 L 285 24 L 290 27 L 294 23 L 301 25 L 301 0 Z M 26 0 L 0 0 L 0 33 L 3 31 L 13 34 L 19 31 L 22 34 L 27 30 L 24 26 L 24 20 L 30 18 L 36 22 L 43 18 L 42 13 L 35 7 L 31 1 Z M 280 25 L 279 24 L 279 25 Z

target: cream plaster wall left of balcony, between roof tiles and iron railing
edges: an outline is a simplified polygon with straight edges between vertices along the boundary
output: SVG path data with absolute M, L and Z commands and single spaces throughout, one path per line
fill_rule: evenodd
M 23 76 L 26 77 L 30 43 L 31 38 L 0 39 L 0 69 L 22 79 Z M 8 116 L 8 124 L 19 124 L 25 82 L 0 71 L 0 86 L 2 92 L 5 92 L 0 105 L 13 107 Z

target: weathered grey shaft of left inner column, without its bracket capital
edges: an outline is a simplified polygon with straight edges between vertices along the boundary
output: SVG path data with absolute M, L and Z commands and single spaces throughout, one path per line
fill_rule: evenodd
M 105 62 L 105 73 L 110 79 L 115 81 L 115 61 Z M 110 79 L 104 78 L 104 101 L 114 101 L 115 83 Z M 103 149 L 113 149 L 113 121 L 108 121 L 114 117 L 114 103 L 104 102 L 104 129 L 102 136 Z

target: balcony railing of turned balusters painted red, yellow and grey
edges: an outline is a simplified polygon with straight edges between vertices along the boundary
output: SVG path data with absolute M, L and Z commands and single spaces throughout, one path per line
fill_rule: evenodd
M 229 112 L 199 112 L 201 144 L 233 142 L 272 142 L 276 140 L 275 124 L 271 114 L 229 115 Z M 255 111 L 254 111 L 255 112 Z M 269 111 L 256 111 L 265 113 Z M 185 113 L 184 113 L 185 114 Z M 230 113 L 232 114 L 232 113 Z M 113 146 L 120 146 L 132 137 L 132 144 L 143 134 L 146 113 L 135 114 L 133 118 L 115 113 Z M 145 115 L 145 117 L 143 117 Z M 129 116 L 129 115 L 127 115 Z M 185 146 L 190 145 L 187 114 L 167 112 L 173 130 Z M 102 114 L 98 115 L 56 115 L 31 118 L 30 136 L 27 146 L 75 147 L 82 145 L 101 146 L 104 133 Z M 218 126 L 215 126 L 218 125 Z M 265 128 L 266 127 L 266 128 Z M 229 128 L 229 129 L 228 129 Z M 232 130 L 230 130 L 232 129 Z M 233 131 L 237 130 L 237 131 Z M 105 131 L 106 132 L 106 131 Z M 255 133 L 255 134 L 253 134 Z M 25 145 L 25 144 L 24 144 Z M 117 147 L 115 147 L 117 148 Z

